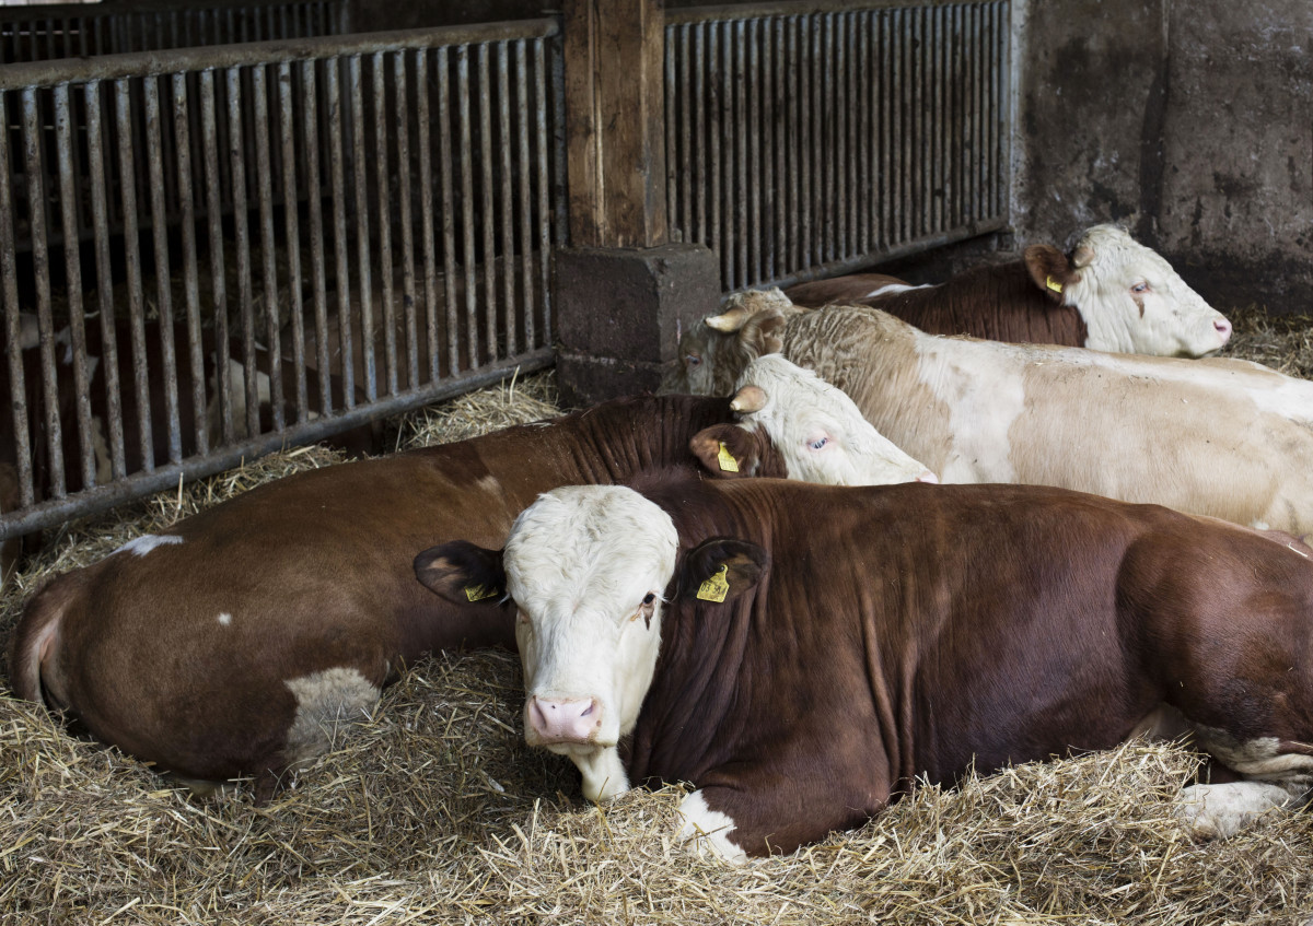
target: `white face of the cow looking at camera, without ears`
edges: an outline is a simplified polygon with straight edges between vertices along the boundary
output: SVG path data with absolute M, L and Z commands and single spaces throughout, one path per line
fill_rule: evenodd
M 569 755 L 584 774 L 590 800 L 628 788 L 614 748 L 637 724 L 651 686 L 659 595 L 675 573 L 678 546 L 670 515 L 616 485 L 548 492 L 507 538 L 507 592 L 520 609 L 525 741 Z M 650 614 L 633 619 L 643 609 Z M 588 715 L 578 732 L 536 725 L 553 708 L 579 706 Z

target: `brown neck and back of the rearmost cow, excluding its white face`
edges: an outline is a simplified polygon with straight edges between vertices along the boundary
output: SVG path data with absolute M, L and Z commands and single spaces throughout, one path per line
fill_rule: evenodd
M 930 334 L 970 334 L 1012 344 L 1083 348 L 1088 331 L 1081 311 L 1060 304 L 1061 296 L 1045 287 L 1048 278 L 1053 278 L 1058 286 L 1070 281 L 1070 270 L 1064 273 L 1057 261 L 1066 265 L 1066 258 L 1054 248 L 1029 248 L 1025 261 L 964 270 L 939 286 L 871 298 L 827 298 L 823 303 L 800 302 L 794 298 L 798 287 L 786 290 L 785 295 L 802 306 L 838 302 L 873 306 Z M 1046 268 L 1050 273 L 1045 274 L 1037 268 Z M 1039 281 L 1035 279 L 1036 273 L 1040 274 Z M 848 278 L 838 277 L 825 282 L 832 283 L 835 292 L 871 291 L 865 289 L 865 283 L 842 286 L 846 279 Z M 897 282 L 893 277 L 888 279 Z

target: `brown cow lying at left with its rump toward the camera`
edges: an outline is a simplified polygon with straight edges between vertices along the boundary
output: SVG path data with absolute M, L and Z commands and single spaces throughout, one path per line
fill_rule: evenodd
M 814 379 L 763 383 L 796 396 Z M 834 417 L 826 390 L 836 392 L 818 384 L 814 401 L 788 404 Z M 758 438 L 776 426 L 768 409 L 746 417 L 754 414 L 744 426 Z M 726 399 L 621 400 L 263 485 L 47 585 L 14 634 L 14 691 L 68 711 L 160 770 L 204 782 L 251 774 L 267 796 L 285 769 L 328 746 L 335 723 L 369 711 L 403 662 L 513 643 L 509 615 L 473 597 L 440 601 L 415 582 L 415 551 L 435 533 L 500 544 L 538 493 L 688 466 L 691 439 L 714 442 L 704 429 L 733 417 Z M 758 439 L 743 473 L 784 476 L 806 455 L 832 459 L 829 445 L 811 449 L 802 434 L 780 453 Z M 885 468 L 869 453 L 856 470 L 826 468 L 926 476 L 890 451 Z M 717 473 L 733 464 L 712 459 Z

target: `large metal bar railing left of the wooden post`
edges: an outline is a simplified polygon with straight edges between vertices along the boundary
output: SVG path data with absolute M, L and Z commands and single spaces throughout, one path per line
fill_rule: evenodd
M 557 35 L 0 68 L 0 539 L 550 363 Z

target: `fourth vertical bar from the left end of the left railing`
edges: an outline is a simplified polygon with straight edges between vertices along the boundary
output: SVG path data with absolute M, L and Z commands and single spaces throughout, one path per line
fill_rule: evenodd
M 126 475 L 123 459 L 123 407 L 118 380 L 118 331 L 114 323 L 114 277 L 109 262 L 109 205 L 106 193 L 105 136 L 101 130 L 101 91 L 89 80 L 83 91 L 87 102 L 87 168 L 91 172 L 92 230 L 96 247 L 96 291 L 100 296 L 100 370 L 105 390 L 105 425 L 109 428 L 109 466 L 113 479 Z M 130 123 L 125 122 L 125 126 Z M 125 230 L 126 231 L 126 230 Z

